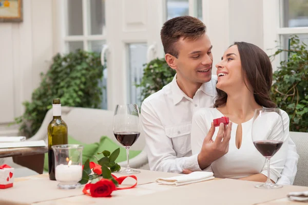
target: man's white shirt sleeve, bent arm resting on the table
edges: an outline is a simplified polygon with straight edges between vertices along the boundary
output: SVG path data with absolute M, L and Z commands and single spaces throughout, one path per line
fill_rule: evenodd
M 161 120 L 149 101 L 141 106 L 141 121 L 150 170 L 174 173 L 182 173 L 183 169 L 201 171 L 198 154 L 177 158 L 172 140 L 166 136 Z

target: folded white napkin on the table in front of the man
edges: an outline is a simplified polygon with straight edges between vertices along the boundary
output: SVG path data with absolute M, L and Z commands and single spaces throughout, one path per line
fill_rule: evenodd
M 180 176 L 173 176 L 169 178 L 158 178 L 156 179 L 156 182 L 159 185 L 181 186 L 214 178 L 215 177 L 213 176 L 213 172 L 192 172 L 190 174 L 183 174 Z

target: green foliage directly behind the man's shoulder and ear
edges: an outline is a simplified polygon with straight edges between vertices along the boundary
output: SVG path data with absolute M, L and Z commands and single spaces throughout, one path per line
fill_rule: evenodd
M 176 74 L 166 63 L 165 58 L 156 58 L 144 65 L 141 83 L 136 87 L 141 87 L 141 102 L 149 95 L 161 90 L 170 83 Z

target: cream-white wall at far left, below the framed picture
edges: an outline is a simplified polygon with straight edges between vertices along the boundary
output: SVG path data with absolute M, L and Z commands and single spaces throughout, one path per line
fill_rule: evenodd
M 52 1 L 25 0 L 22 23 L 0 23 L 0 135 L 23 114 L 22 102 L 40 85 L 53 55 Z

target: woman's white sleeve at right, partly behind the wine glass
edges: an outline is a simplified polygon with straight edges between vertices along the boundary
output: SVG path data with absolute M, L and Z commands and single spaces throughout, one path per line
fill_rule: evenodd
M 282 130 L 284 129 L 284 136 L 287 136 L 282 147 L 279 151 L 271 158 L 270 166 L 269 166 L 269 178 L 271 178 L 275 183 L 277 182 L 278 178 L 281 177 L 281 172 L 284 168 L 285 161 L 286 161 L 286 152 L 288 148 L 288 141 L 290 140 L 290 133 L 289 133 L 289 124 L 290 119 L 286 112 L 282 111 L 282 119 L 283 119 L 283 126 L 281 120 L 277 118 L 276 124 L 274 125 L 273 131 L 269 136 L 271 140 L 283 140 L 282 139 Z M 267 176 L 267 162 L 265 163 L 261 174 Z

